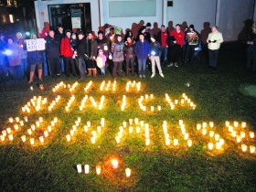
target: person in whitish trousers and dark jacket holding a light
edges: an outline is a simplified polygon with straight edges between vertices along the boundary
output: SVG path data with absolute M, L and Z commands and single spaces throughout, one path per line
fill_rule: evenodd
M 149 59 L 152 62 L 152 75 L 151 78 L 155 77 L 155 63 L 157 66 L 157 69 L 159 71 L 159 74 L 162 78 L 165 78 L 162 69 L 161 69 L 161 65 L 160 65 L 160 57 L 159 57 L 159 52 L 162 49 L 162 46 L 160 45 L 160 43 L 158 41 L 155 40 L 155 36 L 151 36 L 151 43 L 150 43 L 150 56 Z

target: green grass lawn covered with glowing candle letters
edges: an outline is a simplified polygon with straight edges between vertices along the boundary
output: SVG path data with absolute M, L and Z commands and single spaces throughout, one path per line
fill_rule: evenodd
M 37 88 L 37 78 L 32 84 L 33 91 L 26 80 L 1 84 L 0 129 L 4 133 L 11 130 L 11 133 L 6 133 L 5 141 L 0 140 L 0 191 L 256 191 L 256 153 L 250 153 L 250 145 L 256 147 L 255 137 L 250 137 L 250 132 L 256 132 L 256 96 L 253 96 L 256 95 L 256 74 L 246 71 L 240 47 L 228 47 L 223 45 L 216 70 L 208 69 L 202 52 L 194 66 L 162 66 L 165 79 L 158 74 L 150 79 L 149 69 L 145 80 L 137 76 L 117 78 L 115 91 L 112 91 L 114 80 L 110 73 L 103 79 L 86 78 L 77 86 L 75 78 L 45 77 L 44 91 Z M 103 80 L 105 87 L 101 91 Z M 109 91 L 105 91 L 109 80 Z M 140 81 L 140 91 L 132 86 L 126 91 L 129 80 Z M 63 84 L 59 84 L 61 81 Z M 69 85 L 74 86 L 73 91 L 69 91 Z M 72 95 L 74 100 L 69 101 Z M 48 111 L 58 96 L 59 100 Z M 183 99 L 185 103 L 181 104 Z M 195 110 L 187 99 L 196 105 Z M 146 107 L 145 112 L 139 101 Z M 30 112 L 22 112 L 27 102 Z M 37 102 L 41 104 L 38 112 L 33 107 Z M 66 111 L 68 102 L 70 106 Z M 154 112 L 151 106 L 155 106 Z M 157 106 L 161 106 L 161 111 Z M 9 122 L 9 117 L 14 118 L 14 123 Z M 16 117 L 24 121 L 23 126 L 16 123 Z M 43 121 L 37 126 L 39 117 Z M 55 117 L 58 122 L 48 137 L 44 136 Z M 227 121 L 233 132 L 226 126 Z M 87 126 L 88 122 L 91 126 Z M 238 122 L 238 126 L 234 122 Z M 246 123 L 245 128 L 242 122 Z M 17 130 L 15 124 L 18 124 Z M 36 128 L 29 134 L 27 130 L 32 124 Z M 98 132 L 99 126 L 101 132 Z M 120 126 L 123 126 L 121 133 Z M 66 135 L 70 131 L 74 134 L 68 142 Z M 91 143 L 93 133 L 96 133 L 95 144 Z M 13 134 L 12 141 L 10 134 Z M 217 141 L 216 134 L 220 136 Z M 22 141 L 22 135 L 26 135 L 26 142 Z M 191 146 L 185 136 L 192 141 Z M 44 143 L 39 141 L 42 137 Z M 30 138 L 35 139 L 35 144 L 30 144 Z M 224 144 L 218 149 L 216 144 L 220 140 Z M 168 141 L 170 144 L 165 144 Z M 213 144 L 212 150 L 208 149 L 209 143 Z M 241 144 L 247 145 L 246 152 L 242 151 Z M 112 168 L 112 159 L 118 160 L 118 168 Z M 82 173 L 78 173 L 79 164 Z M 90 166 L 89 174 L 84 173 L 84 165 Z M 96 174 L 97 165 L 101 165 L 100 175 Z M 130 177 L 125 176 L 126 168 L 132 170 Z

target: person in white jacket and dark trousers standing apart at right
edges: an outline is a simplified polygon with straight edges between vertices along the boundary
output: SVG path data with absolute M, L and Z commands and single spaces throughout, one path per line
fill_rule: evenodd
M 218 27 L 211 27 L 211 33 L 208 34 L 208 65 L 210 68 L 217 68 L 217 59 L 219 56 L 220 44 L 223 42 L 222 34 L 218 31 Z

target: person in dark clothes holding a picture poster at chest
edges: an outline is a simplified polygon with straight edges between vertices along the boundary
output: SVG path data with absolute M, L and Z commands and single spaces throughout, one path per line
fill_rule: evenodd
M 194 25 L 190 25 L 188 27 L 187 33 L 185 34 L 185 40 L 187 43 L 187 49 L 184 64 L 187 64 L 187 62 L 193 64 L 193 62 L 195 61 L 195 48 L 198 48 L 201 41 L 201 35 L 197 32 Z

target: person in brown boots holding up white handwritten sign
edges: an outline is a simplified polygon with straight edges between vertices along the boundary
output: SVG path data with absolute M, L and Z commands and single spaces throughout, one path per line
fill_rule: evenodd
M 35 34 L 33 35 L 33 39 L 37 39 L 37 36 Z M 44 50 L 27 51 L 27 64 L 28 66 L 30 66 L 30 76 L 27 82 L 28 84 L 33 82 L 36 66 L 38 68 L 38 79 L 42 80 L 44 63 L 43 55 Z

